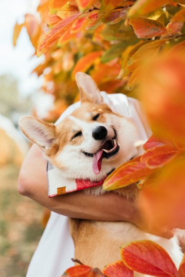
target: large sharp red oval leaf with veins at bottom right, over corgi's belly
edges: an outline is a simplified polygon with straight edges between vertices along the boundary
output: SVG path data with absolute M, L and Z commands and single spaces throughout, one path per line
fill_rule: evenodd
M 131 242 L 121 249 L 121 257 L 131 270 L 157 277 L 177 277 L 174 262 L 166 250 L 152 241 Z

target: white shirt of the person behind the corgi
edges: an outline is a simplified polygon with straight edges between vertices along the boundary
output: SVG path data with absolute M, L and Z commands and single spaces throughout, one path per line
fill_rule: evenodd
M 107 94 L 104 91 L 101 94 L 112 111 L 132 119 L 138 129 L 138 140 L 148 139 L 151 131 L 137 100 L 123 94 Z M 58 121 L 79 106 L 78 102 L 68 107 Z M 69 233 L 68 218 L 51 212 L 26 277 L 60 277 L 66 269 L 74 265 L 71 258 L 74 258 L 74 244 Z

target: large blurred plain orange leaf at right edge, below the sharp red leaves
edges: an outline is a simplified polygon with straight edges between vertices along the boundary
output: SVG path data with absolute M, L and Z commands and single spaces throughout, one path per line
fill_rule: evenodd
M 185 158 L 178 156 L 148 176 L 138 195 L 137 205 L 146 222 L 168 229 L 185 229 Z

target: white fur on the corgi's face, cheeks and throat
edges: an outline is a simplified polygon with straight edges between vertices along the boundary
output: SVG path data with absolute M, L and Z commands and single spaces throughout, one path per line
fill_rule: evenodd
M 134 143 L 137 140 L 135 126 L 125 118 L 121 118 L 114 114 L 104 115 L 106 123 L 86 122 L 69 116 L 68 119 L 75 122 L 76 129 L 80 129 L 83 134 L 83 142 L 80 145 L 66 144 L 62 152 L 56 154 L 57 164 L 65 166 L 63 174 L 68 178 L 82 178 L 91 180 L 103 179 L 113 168 L 128 161 L 137 154 L 137 148 Z M 120 146 L 119 152 L 109 159 L 103 158 L 102 168 L 98 175 L 92 170 L 92 157 L 85 156 L 82 151 L 88 153 L 96 153 L 102 145 L 101 140 L 92 138 L 92 131 L 97 126 L 104 126 L 108 130 L 107 139 L 113 138 L 115 133 L 113 127 L 117 131 L 117 143 Z M 62 170 L 62 169 L 61 169 Z

